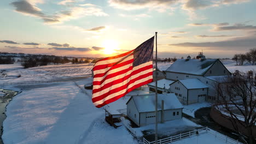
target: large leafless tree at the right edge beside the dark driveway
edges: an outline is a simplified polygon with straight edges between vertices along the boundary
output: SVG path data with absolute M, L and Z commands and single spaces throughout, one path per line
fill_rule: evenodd
M 223 116 L 229 119 L 234 130 L 240 136 L 246 133 L 249 143 L 253 144 L 256 138 L 253 136 L 256 118 L 255 80 L 241 76 L 230 76 L 225 81 L 226 83 L 216 85 L 220 98 L 216 110 L 224 113 Z

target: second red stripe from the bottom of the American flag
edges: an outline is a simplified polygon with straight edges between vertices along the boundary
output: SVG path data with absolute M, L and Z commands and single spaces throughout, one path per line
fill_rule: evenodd
M 130 80 L 128 83 L 126 83 L 126 85 L 120 86 L 120 87 L 115 88 L 115 89 L 111 89 L 111 90 L 110 90 L 109 92 L 107 92 L 107 93 L 104 93 L 104 94 L 102 94 L 102 95 L 100 95 L 100 96 L 98 96 L 98 97 L 92 98 L 92 102 L 94 103 L 94 102 L 96 102 L 96 101 L 99 101 L 99 100 L 102 100 L 102 99 L 106 98 L 106 97 L 107 97 L 108 95 L 110 95 L 110 94 L 113 94 L 113 93 L 117 93 L 117 92 L 119 92 L 119 91 L 122 91 L 123 89 L 127 88 L 131 83 L 133 83 L 133 82 L 135 82 L 135 81 L 137 81 L 137 80 L 141 80 L 141 79 L 143 79 L 143 78 L 145 78 L 145 77 L 148 77 L 148 76 L 150 76 L 150 75 L 152 75 L 152 74 L 153 74 L 153 71 L 150 71 L 149 73 L 144 74 L 144 75 L 140 75 L 140 76 L 136 77 L 135 79 Z

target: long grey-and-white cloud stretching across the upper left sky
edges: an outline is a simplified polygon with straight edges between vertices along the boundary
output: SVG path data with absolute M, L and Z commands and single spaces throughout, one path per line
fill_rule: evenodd
M 63 2 L 63 1 L 62 1 Z M 67 1 L 65 1 L 67 2 Z M 46 15 L 35 4 L 27 1 L 16 1 L 10 3 L 15 7 L 15 11 L 24 15 L 30 15 L 42 19 L 45 23 L 59 23 L 70 19 L 78 19 L 79 17 L 94 15 L 94 16 L 108 16 L 102 9 L 89 7 L 72 7 L 67 10 L 56 11 L 53 15 Z M 64 4 L 64 2 L 63 2 Z M 66 3 L 65 3 L 66 4 Z

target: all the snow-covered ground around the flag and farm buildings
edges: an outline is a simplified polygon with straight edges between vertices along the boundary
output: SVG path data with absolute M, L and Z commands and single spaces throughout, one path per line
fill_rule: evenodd
M 234 72 L 256 70 L 256 66 L 236 66 L 234 61 L 224 61 L 224 65 Z M 158 63 L 160 70 L 166 70 L 171 63 Z M 104 110 L 97 109 L 91 102 L 91 91 L 84 90 L 83 86 L 92 81 L 91 78 L 82 78 L 91 74 L 92 64 L 61 64 L 22 69 L 19 64 L 0 65 L 0 70 L 7 70 L 5 77 L 0 77 L 0 88 L 22 89 L 7 106 L 7 118 L 3 123 L 2 139 L 4 143 L 137 143 L 123 126 L 114 129 L 104 121 Z M 20 76 L 20 77 L 18 77 Z M 80 77 L 80 78 L 79 78 Z M 79 78 L 71 81 L 73 78 Z M 60 80 L 67 80 L 67 82 Z M 70 80 L 70 81 L 68 81 Z M 59 81 L 59 82 L 55 82 Z M 49 83 L 44 83 L 49 82 Z M 26 83 L 33 83 L 27 85 Z M 41 83 L 41 84 L 36 84 Z M 19 85 L 14 85 L 19 84 Z M 1 86 L 2 85 L 2 86 Z M 130 95 L 148 93 L 134 91 L 112 104 L 110 111 L 126 108 L 126 101 Z M 183 112 L 194 117 L 194 112 L 208 103 L 184 106 Z M 174 122 L 174 121 L 173 121 Z M 178 131 L 184 125 L 197 127 L 187 119 L 177 122 L 159 124 L 162 134 Z M 143 130 L 154 129 L 154 125 L 137 128 Z M 169 132 L 168 132 L 169 131 Z M 200 137 L 200 136 L 199 136 Z M 205 135 L 197 140 L 195 137 L 179 141 L 182 143 L 224 143 L 216 138 Z M 209 139 L 209 140 L 208 140 Z

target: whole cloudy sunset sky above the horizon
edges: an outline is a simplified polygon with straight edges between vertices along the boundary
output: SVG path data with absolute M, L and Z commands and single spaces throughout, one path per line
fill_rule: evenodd
M 256 47 L 254 0 L 4 0 L 0 51 L 108 57 L 157 34 L 158 56 L 231 58 Z

